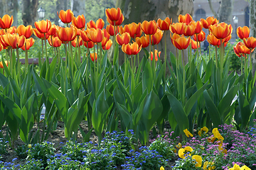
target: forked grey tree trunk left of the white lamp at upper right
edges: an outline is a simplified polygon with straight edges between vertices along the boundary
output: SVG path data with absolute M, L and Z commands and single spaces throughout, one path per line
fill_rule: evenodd
M 210 5 L 210 10 L 212 11 L 215 18 L 220 22 L 231 23 L 233 15 L 233 0 L 221 0 L 220 8 L 218 12 L 212 6 L 212 0 L 208 0 Z

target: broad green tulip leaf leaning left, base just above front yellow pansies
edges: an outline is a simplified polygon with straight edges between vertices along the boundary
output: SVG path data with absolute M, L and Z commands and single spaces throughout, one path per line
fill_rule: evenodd
M 171 111 L 173 111 L 174 113 L 174 118 L 176 120 L 176 123 L 178 124 L 179 129 L 184 130 L 188 128 L 188 117 L 183 110 L 181 103 L 172 94 L 167 93 L 167 97 L 169 99 Z

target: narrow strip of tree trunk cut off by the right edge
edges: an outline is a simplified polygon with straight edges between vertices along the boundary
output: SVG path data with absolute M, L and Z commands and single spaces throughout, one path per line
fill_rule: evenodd
M 256 38 L 256 0 L 250 0 L 250 36 Z M 255 73 L 255 51 L 252 52 L 252 74 Z

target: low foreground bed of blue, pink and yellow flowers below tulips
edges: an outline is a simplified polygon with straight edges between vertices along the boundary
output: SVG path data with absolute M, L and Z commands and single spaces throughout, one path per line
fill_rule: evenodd
M 184 130 L 185 131 L 185 130 Z M 185 131 L 186 132 L 186 131 Z M 199 128 L 188 141 L 179 142 L 174 132 L 165 132 L 138 146 L 134 132 L 107 132 L 100 146 L 72 140 L 53 147 L 51 142 L 24 145 L 12 162 L 1 160 L 1 169 L 255 169 L 256 125 L 239 132 L 233 125 L 221 125 L 212 133 Z M 6 143 L 0 141 L 1 154 Z M 27 150 L 26 150 L 27 149 Z M 24 152 L 25 151 L 25 152 Z M 23 153 L 23 154 L 22 154 Z M 26 162 L 18 164 L 18 162 Z

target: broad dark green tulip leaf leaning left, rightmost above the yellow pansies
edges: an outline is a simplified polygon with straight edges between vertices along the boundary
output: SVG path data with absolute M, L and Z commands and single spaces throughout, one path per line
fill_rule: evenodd
M 213 127 L 217 128 L 218 125 L 221 125 L 221 117 L 218 108 L 215 106 L 213 100 L 210 98 L 208 91 L 203 91 L 203 96 L 206 101 L 206 108 L 210 115 L 210 119 L 212 120 Z

